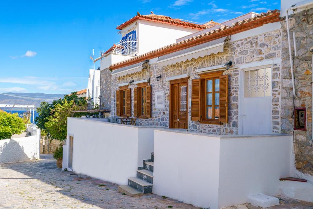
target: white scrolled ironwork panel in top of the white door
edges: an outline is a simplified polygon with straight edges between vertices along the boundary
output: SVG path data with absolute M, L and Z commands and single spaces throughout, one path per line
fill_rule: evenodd
M 271 68 L 244 71 L 244 97 L 270 97 L 271 80 Z

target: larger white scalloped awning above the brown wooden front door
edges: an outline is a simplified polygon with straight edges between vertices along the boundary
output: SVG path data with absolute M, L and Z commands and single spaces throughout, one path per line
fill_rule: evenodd
M 172 65 L 181 61 L 191 60 L 192 58 L 197 59 L 198 57 L 204 57 L 205 55 L 223 52 L 226 39 L 229 39 L 229 37 L 226 36 L 204 44 L 163 55 L 156 61 L 156 63 L 158 63 L 159 66 Z

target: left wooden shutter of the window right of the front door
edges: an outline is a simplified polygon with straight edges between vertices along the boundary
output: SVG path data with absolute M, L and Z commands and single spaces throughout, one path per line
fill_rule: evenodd
M 201 79 L 191 81 L 191 120 L 200 121 L 201 113 Z

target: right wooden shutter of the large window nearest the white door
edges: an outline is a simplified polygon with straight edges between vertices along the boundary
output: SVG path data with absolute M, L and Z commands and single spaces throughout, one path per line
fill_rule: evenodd
M 219 76 L 219 122 L 227 123 L 228 118 L 228 75 Z

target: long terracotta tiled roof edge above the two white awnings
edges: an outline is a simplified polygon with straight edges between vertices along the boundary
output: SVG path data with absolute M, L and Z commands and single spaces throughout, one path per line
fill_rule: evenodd
M 190 37 L 189 39 L 185 39 L 185 40 L 182 40 L 182 41 L 177 42 L 177 43 L 163 46 L 159 49 L 149 51 L 145 54 L 138 55 L 138 56 L 130 58 L 128 60 L 117 62 L 113 65 L 110 65 L 109 68 L 112 70 L 115 70 L 115 69 L 118 69 L 118 68 L 121 68 L 124 66 L 138 63 L 142 60 L 152 59 L 154 57 L 165 55 L 165 54 L 171 53 L 173 51 L 181 50 L 182 48 L 185 49 L 185 48 L 188 48 L 188 47 L 191 47 L 194 45 L 205 43 L 205 42 L 210 41 L 212 39 L 222 38 L 222 37 L 230 35 L 230 34 L 239 33 L 239 32 L 245 31 L 245 30 L 249 30 L 251 28 L 259 27 L 263 24 L 267 24 L 267 23 L 271 23 L 271 22 L 277 22 L 277 21 L 280 21 L 279 15 L 280 15 L 280 10 L 277 10 L 277 9 L 268 10 L 266 13 L 260 13 L 259 15 L 255 15 L 253 18 L 252 17 L 246 18 L 246 19 L 243 19 L 241 21 L 237 21 L 235 23 L 232 23 L 231 25 L 221 25 L 218 29 L 214 29 L 214 30 L 211 30 L 209 32 Z M 258 22 L 259 20 L 261 21 L 261 23 Z M 255 25 L 253 25 L 251 27 L 249 27 L 249 26 L 244 27 L 245 24 L 248 25 L 249 23 L 251 23 L 251 24 L 255 23 Z M 240 29 L 237 29 L 236 26 L 242 26 L 242 27 Z M 237 30 L 233 31 L 232 29 L 235 29 L 235 28 Z M 228 30 L 229 30 L 229 33 L 222 33 L 223 31 L 228 31 Z M 163 52 L 163 54 L 162 54 L 162 52 Z

